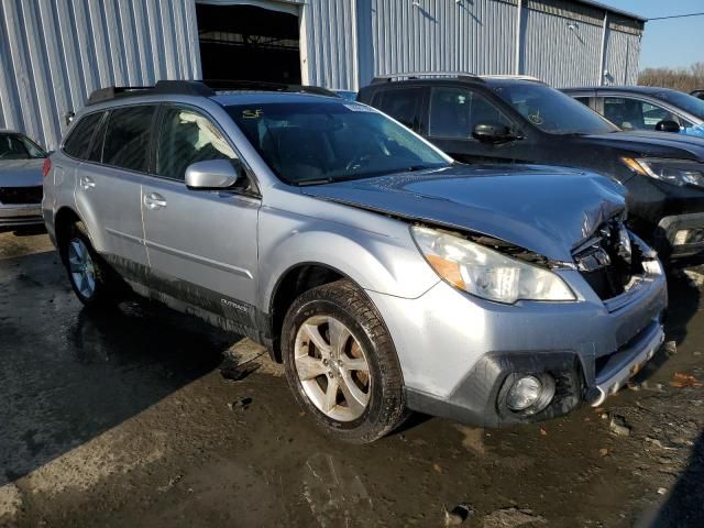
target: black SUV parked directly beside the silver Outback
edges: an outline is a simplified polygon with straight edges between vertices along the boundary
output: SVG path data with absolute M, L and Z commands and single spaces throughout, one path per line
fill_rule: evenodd
M 377 78 L 358 100 L 460 162 L 563 165 L 615 177 L 628 190 L 631 229 L 663 258 L 704 255 L 704 140 L 623 132 L 536 80 L 440 75 Z

